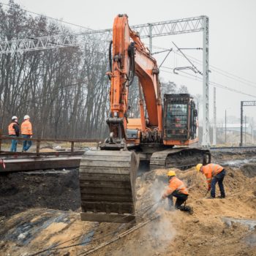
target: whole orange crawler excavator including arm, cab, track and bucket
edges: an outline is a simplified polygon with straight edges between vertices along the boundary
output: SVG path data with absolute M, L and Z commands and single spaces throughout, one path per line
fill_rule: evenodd
M 189 94 L 161 97 L 157 61 L 129 28 L 127 15 L 113 23 L 109 48 L 109 136 L 80 162 L 81 219 L 128 222 L 135 218 L 138 165 L 180 169 L 211 162 L 211 154 L 189 145 L 198 142 L 197 110 Z M 129 118 L 129 86 L 138 77 L 140 118 Z

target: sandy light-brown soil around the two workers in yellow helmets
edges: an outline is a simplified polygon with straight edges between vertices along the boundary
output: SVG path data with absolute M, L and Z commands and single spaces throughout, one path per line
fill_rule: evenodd
M 238 169 L 226 170 L 227 197 L 214 200 L 204 197 L 207 185 L 202 174 L 194 169 L 176 170 L 189 188 L 187 204 L 194 208 L 194 214 L 166 211 L 165 200 L 157 210 L 159 221 L 118 243 L 111 255 L 256 255 L 255 228 L 234 222 L 228 226 L 223 219 L 252 219 L 256 225 L 255 178 Z M 167 170 L 154 170 L 138 178 L 138 208 L 159 200 L 167 185 L 166 175 Z

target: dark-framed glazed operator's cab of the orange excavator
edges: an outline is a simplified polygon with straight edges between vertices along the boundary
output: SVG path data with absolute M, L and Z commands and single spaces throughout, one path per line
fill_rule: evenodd
M 189 94 L 164 95 L 164 135 L 165 144 L 188 145 L 197 138 L 197 110 Z

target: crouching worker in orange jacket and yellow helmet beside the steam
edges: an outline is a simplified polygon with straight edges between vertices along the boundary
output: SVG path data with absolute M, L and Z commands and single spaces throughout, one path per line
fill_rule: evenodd
M 168 204 L 170 210 L 173 208 L 173 197 L 176 197 L 175 208 L 180 211 L 188 211 L 189 214 L 193 214 L 193 208 L 191 206 L 186 206 L 186 200 L 189 196 L 187 187 L 184 182 L 176 177 L 176 173 L 173 170 L 169 170 L 167 173 L 169 186 L 165 193 L 162 195 L 162 200 L 168 198 Z M 181 206 L 185 203 L 185 206 Z

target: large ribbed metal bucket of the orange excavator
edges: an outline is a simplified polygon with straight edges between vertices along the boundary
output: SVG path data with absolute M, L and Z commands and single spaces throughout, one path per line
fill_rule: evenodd
M 135 219 L 138 164 L 132 151 L 86 151 L 79 169 L 81 219 L 119 223 Z

